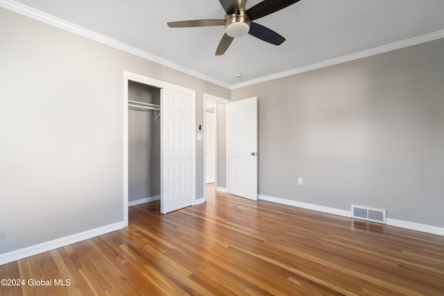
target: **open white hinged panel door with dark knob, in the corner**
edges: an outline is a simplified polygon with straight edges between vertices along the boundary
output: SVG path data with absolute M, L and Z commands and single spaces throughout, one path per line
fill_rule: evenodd
M 227 191 L 257 200 L 257 97 L 227 105 Z

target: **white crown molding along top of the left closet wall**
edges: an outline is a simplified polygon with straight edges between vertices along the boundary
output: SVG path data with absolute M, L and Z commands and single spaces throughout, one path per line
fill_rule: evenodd
M 219 85 L 221 87 L 225 87 L 230 89 L 231 85 L 225 83 L 221 80 L 217 80 L 210 76 L 207 76 L 203 73 L 199 73 L 197 71 L 191 70 L 187 67 L 183 67 L 180 64 L 176 64 L 169 60 L 165 60 L 164 58 L 160 58 L 157 55 L 153 55 L 146 51 L 142 51 L 141 49 L 137 49 L 128 44 L 124 44 L 123 42 L 119 42 L 110 37 L 106 37 L 105 35 L 101 35 L 94 31 L 90 31 L 87 28 L 83 28 L 81 26 L 77 26 L 76 24 L 72 24 L 69 21 L 65 21 L 64 19 L 60 19 L 58 17 L 54 17 L 53 15 L 49 15 L 46 12 L 42 12 L 40 10 L 36 10 L 29 6 L 26 6 L 22 3 L 18 3 L 12 0 L 0 0 L 0 7 L 6 8 L 8 10 L 12 10 L 14 12 L 19 13 L 20 15 L 25 15 L 26 17 L 31 17 L 32 19 L 37 19 L 38 21 L 42 21 L 51 26 L 55 26 L 57 28 L 61 28 L 65 31 L 69 31 L 71 33 L 75 33 L 77 35 L 87 37 L 90 40 L 94 40 L 96 42 L 100 42 L 102 44 L 112 46 L 115 49 L 119 49 L 121 51 L 125 51 L 127 53 L 131 53 L 133 55 L 137 55 L 140 58 L 144 58 L 146 60 L 151 60 L 151 62 L 156 62 L 157 64 L 162 64 L 165 67 L 169 67 L 171 69 L 175 69 L 177 71 L 189 74 L 196 78 L 200 78 L 207 82 L 214 83 L 215 85 Z

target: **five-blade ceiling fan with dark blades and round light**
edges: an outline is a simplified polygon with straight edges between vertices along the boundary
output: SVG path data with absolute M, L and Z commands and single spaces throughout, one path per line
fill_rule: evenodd
M 225 34 L 216 49 L 216 55 L 223 55 L 235 37 L 247 33 L 265 42 L 280 45 L 285 38 L 275 31 L 253 22 L 255 19 L 271 15 L 273 12 L 291 6 L 300 0 L 264 0 L 246 9 L 247 0 L 219 0 L 225 12 L 225 19 L 196 19 L 192 21 L 171 21 L 170 28 L 225 26 Z

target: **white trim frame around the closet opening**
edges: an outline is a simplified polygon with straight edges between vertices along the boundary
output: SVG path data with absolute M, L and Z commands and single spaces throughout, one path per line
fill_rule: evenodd
M 176 92 L 182 92 L 184 94 L 189 94 L 194 102 L 191 107 L 192 116 L 192 130 L 196 130 L 196 91 L 193 89 L 188 89 L 186 87 L 180 87 L 178 85 L 173 85 L 169 82 L 164 82 L 162 80 L 157 80 L 147 76 L 143 76 L 137 73 L 132 73 L 130 71 L 123 71 L 123 223 L 128 226 L 128 82 L 135 81 L 142 83 L 144 85 L 151 85 L 160 89 L 171 89 Z M 160 109 L 160 116 L 162 116 L 162 107 Z M 161 127 L 162 129 L 162 127 Z M 162 153 L 162 147 L 160 153 Z M 193 139 L 191 144 L 191 149 L 193 150 L 193 168 L 192 168 L 192 178 L 193 178 L 193 191 L 196 193 L 196 133 L 193 133 Z M 161 168 L 162 169 L 162 168 Z M 162 174 L 161 174 L 162 182 Z M 160 198 L 162 199 L 162 193 Z M 196 204 L 196 194 L 193 194 L 193 204 Z

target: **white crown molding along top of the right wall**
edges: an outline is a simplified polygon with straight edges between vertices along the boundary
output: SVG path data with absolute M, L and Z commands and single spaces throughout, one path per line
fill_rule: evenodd
M 269 80 L 275 80 L 278 78 L 284 78 L 287 76 L 291 76 L 291 75 L 295 75 L 295 74 L 299 74 L 299 73 L 303 73 L 303 72 L 307 72 L 307 71 L 311 71 L 311 70 L 316 70 L 316 69 L 321 69 L 324 67 L 329 67 L 329 66 L 333 66 L 335 64 L 341 64 L 343 62 L 350 62 L 352 60 L 358 60 L 360 58 L 367 58 L 371 55 L 377 55 L 379 53 L 386 53 L 388 51 L 394 51 L 396 49 L 402 49 L 404 47 L 408 47 L 408 46 L 412 46 L 412 45 L 416 45 L 416 44 L 420 44 L 420 43 L 424 43 L 424 42 L 429 42 L 429 41 L 433 41 L 433 40 L 438 40 L 444 37 L 444 29 L 442 29 L 441 31 L 436 31 L 433 33 L 429 33 L 429 34 L 425 34 L 425 35 L 421 35 L 418 37 L 413 37 L 411 39 L 408 40 L 402 40 L 400 42 L 394 42 L 391 44 L 386 44 L 383 46 L 379 46 L 379 47 L 375 47 L 374 49 L 368 49 L 366 51 L 360 51 L 359 53 L 352 53 L 350 55 L 344 55 L 343 57 L 340 58 L 334 58 L 331 60 L 325 60 L 323 62 L 317 62 L 315 64 L 309 64 L 307 66 L 304 67 L 299 67 L 296 69 L 291 69 L 289 71 L 283 71 L 280 73 L 275 73 L 272 75 L 268 75 L 268 76 L 264 76 L 261 78 L 256 78 L 256 79 L 252 79 L 252 80 L 248 80 L 245 82 L 240 82 L 234 85 L 231 85 L 231 89 L 238 89 L 240 87 L 246 87 L 248 85 L 255 85 L 257 83 L 260 82 L 266 82 Z

